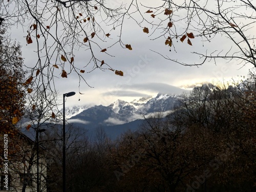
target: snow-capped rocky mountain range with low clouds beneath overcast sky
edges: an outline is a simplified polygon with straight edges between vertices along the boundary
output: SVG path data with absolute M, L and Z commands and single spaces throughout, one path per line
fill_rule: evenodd
M 142 119 L 156 112 L 170 112 L 178 104 L 178 96 L 161 94 L 156 97 L 143 97 L 126 102 L 117 100 L 109 106 L 95 105 L 89 108 L 72 108 L 67 110 L 71 123 L 82 123 L 84 126 L 112 126 Z M 72 114 L 74 112 L 74 114 Z M 80 113 L 79 113 L 80 112 Z

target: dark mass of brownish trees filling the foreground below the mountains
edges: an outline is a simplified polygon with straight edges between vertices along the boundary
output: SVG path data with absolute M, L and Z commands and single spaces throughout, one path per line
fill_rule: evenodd
M 93 141 L 73 137 L 67 191 L 256 191 L 255 78 L 196 87 L 115 141 L 100 128 Z M 48 146 L 48 188 L 62 191 L 61 142 Z

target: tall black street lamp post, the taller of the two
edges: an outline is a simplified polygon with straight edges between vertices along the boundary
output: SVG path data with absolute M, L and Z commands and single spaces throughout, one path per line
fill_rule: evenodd
M 65 130 L 65 97 L 71 97 L 73 95 L 75 95 L 75 92 L 69 92 L 69 93 L 65 93 L 63 94 L 63 164 L 62 164 L 62 169 L 63 169 L 63 175 L 62 175 L 62 179 L 63 179 L 63 192 L 66 192 L 66 130 Z

